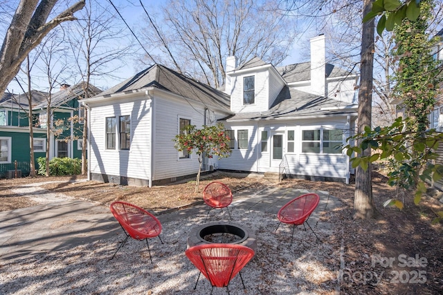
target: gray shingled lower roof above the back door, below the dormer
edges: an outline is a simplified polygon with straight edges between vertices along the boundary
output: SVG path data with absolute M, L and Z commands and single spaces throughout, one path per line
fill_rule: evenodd
M 345 104 L 336 99 L 312 95 L 285 86 L 269 111 L 257 113 L 237 113 L 226 117 L 227 121 L 266 120 L 277 118 L 311 117 L 318 115 L 344 115 L 355 113 L 355 108 L 341 108 Z M 356 106 L 355 106 L 356 107 Z M 323 109 L 322 109 L 323 108 Z

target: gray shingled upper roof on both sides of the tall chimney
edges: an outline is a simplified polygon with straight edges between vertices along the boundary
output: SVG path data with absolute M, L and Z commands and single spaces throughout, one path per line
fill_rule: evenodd
M 278 73 L 282 75 L 287 83 L 309 81 L 311 79 L 311 62 L 303 62 L 301 64 L 289 64 L 288 66 L 276 67 Z M 326 77 L 343 77 L 350 75 L 350 72 L 337 68 L 333 64 L 326 64 Z

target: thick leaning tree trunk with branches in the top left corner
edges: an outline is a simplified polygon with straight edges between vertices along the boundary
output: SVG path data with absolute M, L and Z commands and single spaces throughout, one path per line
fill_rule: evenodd
M 46 23 L 55 3 L 57 0 L 20 1 L 0 50 L 0 94 L 5 92 L 8 84 L 19 73 L 21 63 L 30 50 L 58 24 L 74 20 L 73 13 L 84 7 L 84 0 L 78 1 Z

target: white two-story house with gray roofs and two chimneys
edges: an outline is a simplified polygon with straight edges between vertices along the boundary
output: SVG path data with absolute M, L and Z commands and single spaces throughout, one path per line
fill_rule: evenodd
M 223 122 L 233 153 L 205 159 L 206 170 L 282 172 L 348 182 L 341 145 L 354 129 L 356 75 L 325 62 L 325 37 L 311 39 L 311 61 L 275 67 L 226 60 L 224 91 L 154 65 L 84 99 L 89 108 L 89 175 L 149 185 L 197 173 L 194 154 L 178 152 L 186 124 Z

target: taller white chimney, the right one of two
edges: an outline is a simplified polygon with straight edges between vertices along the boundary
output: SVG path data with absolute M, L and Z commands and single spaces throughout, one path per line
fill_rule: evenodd
M 325 96 L 325 35 L 311 38 L 311 93 Z

